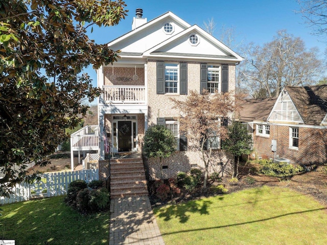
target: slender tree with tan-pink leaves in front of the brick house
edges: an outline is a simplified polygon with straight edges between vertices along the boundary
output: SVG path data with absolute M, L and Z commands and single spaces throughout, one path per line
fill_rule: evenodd
M 175 108 L 180 111 L 180 130 L 187 133 L 189 149 L 201 152 L 204 169 L 203 188 L 206 188 L 208 168 L 211 164 L 212 146 L 218 139 L 227 136 L 226 127 L 221 126 L 221 120 L 233 112 L 234 103 L 228 94 L 209 94 L 203 91 L 199 94 L 190 91 L 185 101 L 172 99 Z

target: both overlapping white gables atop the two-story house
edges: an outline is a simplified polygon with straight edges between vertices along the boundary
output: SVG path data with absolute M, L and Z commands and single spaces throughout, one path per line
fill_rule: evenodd
M 165 33 L 163 26 L 174 26 L 172 33 Z M 189 43 L 191 34 L 199 37 L 195 46 Z M 197 25 L 191 26 L 172 12 L 162 14 L 110 42 L 113 50 L 121 50 L 122 58 L 199 59 L 237 63 L 243 58 Z

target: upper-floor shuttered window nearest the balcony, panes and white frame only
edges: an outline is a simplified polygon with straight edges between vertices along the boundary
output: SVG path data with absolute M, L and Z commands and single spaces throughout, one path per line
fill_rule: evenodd
M 179 93 L 178 64 L 165 64 L 165 93 Z

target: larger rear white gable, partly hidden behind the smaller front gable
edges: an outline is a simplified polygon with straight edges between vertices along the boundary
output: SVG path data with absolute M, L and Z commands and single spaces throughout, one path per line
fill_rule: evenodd
M 164 31 L 165 24 L 171 24 L 173 30 L 170 33 Z M 112 50 L 121 50 L 126 53 L 144 53 L 145 51 L 164 42 L 173 35 L 190 27 L 190 24 L 173 14 L 167 12 L 137 29 L 111 41 L 108 46 Z

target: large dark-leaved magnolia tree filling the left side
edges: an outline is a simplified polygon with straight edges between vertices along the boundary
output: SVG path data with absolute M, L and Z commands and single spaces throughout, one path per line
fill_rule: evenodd
M 81 72 L 99 68 L 117 54 L 86 35 L 93 25 L 112 26 L 125 18 L 121 0 L 3 0 L 0 2 L 0 194 L 27 176 L 27 164 L 69 138 L 99 96 Z

